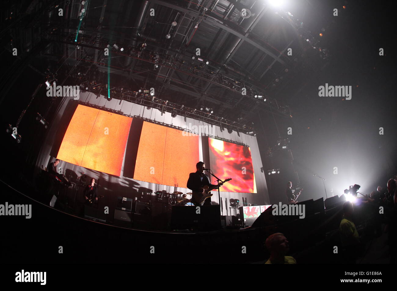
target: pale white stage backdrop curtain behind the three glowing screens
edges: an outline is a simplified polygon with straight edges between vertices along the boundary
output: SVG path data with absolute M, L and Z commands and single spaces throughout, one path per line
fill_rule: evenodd
M 106 100 L 102 95 L 98 98 L 96 98 L 96 95 L 94 93 L 90 92 L 80 92 L 80 101 L 84 103 L 89 103 L 91 105 L 97 105 L 100 107 L 104 108 L 109 108 L 112 110 L 119 110 L 123 112 L 124 114 L 130 115 L 130 116 L 141 116 L 143 118 L 148 118 L 150 120 L 156 120 L 158 122 L 163 122 L 164 124 L 169 124 L 169 125 L 175 125 L 179 126 L 182 128 L 189 128 L 192 126 L 208 126 L 208 124 L 194 120 L 191 118 L 187 118 L 186 122 L 184 121 L 183 116 L 177 116 L 175 118 L 171 117 L 170 112 L 166 112 L 165 114 L 161 115 L 160 110 L 150 108 L 147 109 L 144 106 L 137 105 L 134 103 L 130 103 L 128 101 L 121 101 L 121 104 L 119 104 L 118 99 L 112 99 L 111 101 Z M 50 125 L 48 129 L 48 135 L 46 137 L 45 143 L 41 148 L 39 158 L 37 160 L 37 167 L 46 167 L 49 162 L 53 162 L 56 158 L 56 153 L 58 152 L 58 148 L 53 148 L 54 145 L 54 137 L 56 136 L 56 133 L 58 131 L 58 128 L 60 127 L 60 122 L 61 118 L 65 112 L 65 109 L 69 102 L 76 102 L 71 98 L 65 97 L 65 99 L 62 101 L 60 107 L 57 109 L 57 114 L 56 118 L 54 118 L 54 122 Z M 67 120 L 66 122 L 69 123 L 70 120 Z M 64 121 L 63 121 L 64 122 Z M 83 124 L 81 126 L 84 126 Z M 210 126 L 211 127 L 211 126 Z M 256 137 L 253 137 L 251 135 L 246 135 L 244 133 L 240 133 L 240 136 L 237 135 L 235 131 L 233 133 L 229 134 L 227 130 L 220 131 L 220 127 L 218 126 L 212 126 L 211 127 L 211 135 L 210 137 L 220 137 L 224 138 L 227 140 L 231 140 L 232 142 L 239 142 L 243 143 L 245 145 L 248 145 L 251 150 L 251 157 L 252 157 L 252 165 L 254 169 L 254 175 L 255 175 L 255 183 L 256 183 L 256 193 L 236 193 L 236 192 L 221 192 L 220 196 L 222 199 L 222 203 L 224 204 L 225 198 L 227 198 L 228 204 L 229 204 L 229 199 L 230 198 L 238 198 L 240 200 L 240 205 L 242 206 L 242 198 L 247 198 L 247 202 L 249 204 L 256 204 L 256 205 L 268 205 L 270 204 L 269 196 L 268 196 L 268 190 L 266 186 L 266 180 L 264 173 L 261 172 L 262 168 L 262 162 L 260 159 L 260 153 L 259 153 L 259 148 L 258 148 L 258 143 L 256 141 Z M 201 139 L 199 139 L 199 156 L 200 160 L 205 159 L 203 155 L 203 146 L 201 143 Z M 153 140 L 153 143 L 156 143 L 155 140 Z M 58 145 L 59 146 L 59 145 Z M 206 145 L 208 147 L 208 145 Z M 55 152 L 55 154 L 54 154 Z M 51 155 L 54 154 L 54 156 Z M 106 201 L 108 203 L 113 203 L 116 204 L 116 199 L 117 196 L 123 196 L 123 197 L 138 197 L 138 200 L 141 199 L 141 195 L 143 192 L 143 195 L 146 195 L 145 192 L 148 192 L 147 189 L 150 189 L 153 191 L 151 195 L 155 196 L 154 192 L 159 191 L 159 190 L 166 190 L 168 193 L 171 193 L 173 191 L 180 191 L 183 193 L 191 192 L 191 190 L 186 188 L 186 182 L 187 178 L 189 177 L 189 173 L 186 173 L 186 179 L 185 181 L 180 181 L 178 183 L 178 187 L 174 188 L 174 186 L 166 186 L 166 185 L 161 185 L 161 184 L 155 184 L 155 183 L 148 183 L 144 181 L 138 181 L 134 180 L 131 178 L 127 178 L 124 176 L 123 169 L 124 169 L 124 162 L 125 162 L 125 154 L 126 150 L 124 149 L 123 153 L 123 164 L 121 167 L 121 173 L 120 176 L 116 175 L 110 175 L 106 174 L 100 171 L 94 171 L 89 168 L 81 167 L 75 164 L 67 163 L 65 161 L 60 162 L 58 165 L 59 167 L 62 167 L 64 171 L 69 170 L 74 172 L 77 175 L 81 175 L 82 172 L 85 172 L 89 177 L 93 177 L 98 181 L 98 195 L 105 195 L 106 196 Z M 183 159 L 183 156 L 180 157 Z M 198 161 L 194 160 L 191 161 L 192 164 L 196 164 Z M 206 162 L 204 160 L 204 162 Z M 215 172 L 215 174 L 217 174 Z M 226 179 L 228 177 L 220 177 L 221 179 Z M 233 178 L 233 177 L 231 177 Z M 212 180 L 212 182 L 214 182 Z M 254 191 L 253 191 L 254 192 Z M 214 196 L 211 198 L 212 199 L 212 204 L 218 204 L 218 193 L 213 191 Z M 224 215 L 226 214 L 225 207 L 223 211 Z M 230 212 L 229 212 L 230 214 Z

